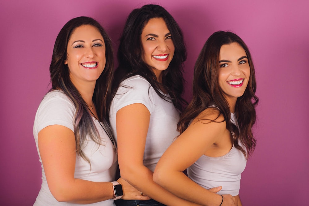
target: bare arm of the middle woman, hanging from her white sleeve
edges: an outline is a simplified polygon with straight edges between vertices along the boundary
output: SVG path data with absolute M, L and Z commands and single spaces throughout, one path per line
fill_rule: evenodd
M 121 177 L 145 195 L 166 205 L 196 205 L 172 195 L 152 180 L 143 164 L 150 112 L 140 103 L 121 108 L 116 114 L 118 162 Z

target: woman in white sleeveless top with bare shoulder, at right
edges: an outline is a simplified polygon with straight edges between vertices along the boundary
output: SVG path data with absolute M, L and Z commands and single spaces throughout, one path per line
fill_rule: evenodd
M 255 148 L 256 79 L 246 44 L 215 32 L 194 69 L 193 99 L 181 114 L 180 136 L 160 159 L 156 183 L 201 205 L 242 205 L 241 173 Z M 181 171 L 188 171 L 188 177 Z M 206 189 L 222 186 L 218 194 Z

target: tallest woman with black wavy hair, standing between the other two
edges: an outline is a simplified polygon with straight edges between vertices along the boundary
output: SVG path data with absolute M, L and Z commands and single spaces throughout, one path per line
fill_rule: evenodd
M 179 135 L 185 60 L 182 32 L 162 6 L 130 13 L 120 38 L 110 121 L 121 177 L 152 200 L 118 200 L 117 205 L 194 205 L 152 180 L 159 158 Z

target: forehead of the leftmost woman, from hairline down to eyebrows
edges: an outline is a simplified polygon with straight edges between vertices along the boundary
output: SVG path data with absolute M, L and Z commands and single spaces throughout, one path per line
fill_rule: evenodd
M 97 27 L 91 25 L 82 25 L 74 29 L 74 31 L 71 33 L 69 42 L 75 40 L 85 40 L 85 39 L 103 40 L 103 36 L 101 35 Z

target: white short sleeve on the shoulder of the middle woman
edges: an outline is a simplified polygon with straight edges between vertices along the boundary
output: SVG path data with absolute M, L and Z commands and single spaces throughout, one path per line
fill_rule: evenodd
M 113 99 L 116 112 L 130 104 L 141 103 L 146 106 L 150 114 L 155 108 L 155 90 L 150 83 L 141 76 L 133 76 L 122 82 Z

